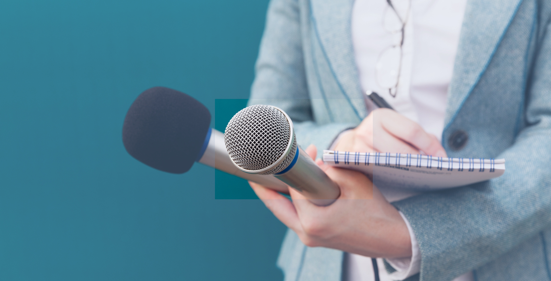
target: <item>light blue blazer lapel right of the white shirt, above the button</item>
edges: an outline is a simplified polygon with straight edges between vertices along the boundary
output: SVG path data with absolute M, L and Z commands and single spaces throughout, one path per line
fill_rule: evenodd
M 522 0 L 468 0 L 447 100 L 450 126 L 488 67 Z

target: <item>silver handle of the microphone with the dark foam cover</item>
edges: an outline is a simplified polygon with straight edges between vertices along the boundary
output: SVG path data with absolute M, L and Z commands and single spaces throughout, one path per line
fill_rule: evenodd
M 230 159 L 230 154 L 224 144 L 224 133 L 216 129 L 212 129 L 207 149 L 205 149 L 198 162 L 242 179 L 256 182 L 272 190 L 289 193 L 287 185 L 272 175 L 248 174 L 239 170 Z

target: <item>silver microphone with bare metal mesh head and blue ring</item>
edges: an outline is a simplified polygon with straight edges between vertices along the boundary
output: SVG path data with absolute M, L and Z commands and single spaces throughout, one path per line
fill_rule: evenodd
M 274 175 L 319 206 L 341 194 L 339 187 L 296 144 L 291 118 L 278 107 L 252 105 L 231 118 L 224 138 L 241 171 Z

